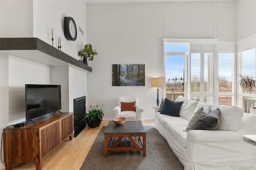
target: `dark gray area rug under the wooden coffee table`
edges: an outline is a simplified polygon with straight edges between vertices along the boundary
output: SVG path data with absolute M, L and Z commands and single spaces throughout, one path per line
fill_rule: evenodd
M 104 157 L 103 126 L 80 170 L 184 170 L 166 140 L 153 126 L 146 130 L 146 157 L 142 151 L 108 152 Z

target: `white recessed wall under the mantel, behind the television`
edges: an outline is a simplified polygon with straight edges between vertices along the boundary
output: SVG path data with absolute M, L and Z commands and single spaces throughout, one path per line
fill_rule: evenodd
M 9 56 L 9 125 L 26 120 L 25 84 L 50 84 L 50 66 Z

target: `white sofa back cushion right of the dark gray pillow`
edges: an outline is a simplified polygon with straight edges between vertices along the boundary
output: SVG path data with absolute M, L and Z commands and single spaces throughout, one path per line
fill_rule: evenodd
M 237 131 L 240 128 L 244 110 L 236 106 L 218 105 L 214 108 L 220 109 L 220 126 L 218 130 Z

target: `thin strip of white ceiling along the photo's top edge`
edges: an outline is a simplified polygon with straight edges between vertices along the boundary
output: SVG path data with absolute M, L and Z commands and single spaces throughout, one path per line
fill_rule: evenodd
M 188 2 L 188 1 L 219 1 L 219 0 L 85 0 L 87 4 L 129 3 L 129 2 Z

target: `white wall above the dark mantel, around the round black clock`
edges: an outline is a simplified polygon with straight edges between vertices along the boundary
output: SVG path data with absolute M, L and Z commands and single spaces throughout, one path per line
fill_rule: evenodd
M 66 40 L 64 36 L 64 17 L 71 16 L 76 22 L 77 38 Z M 76 58 L 78 51 L 86 44 L 86 2 L 84 0 L 34 0 L 33 3 L 33 37 L 52 44 L 52 28 L 54 47 L 58 48 L 58 37 L 61 37 L 61 50 Z M 78 31 L 84 31 L 84 36 Z

